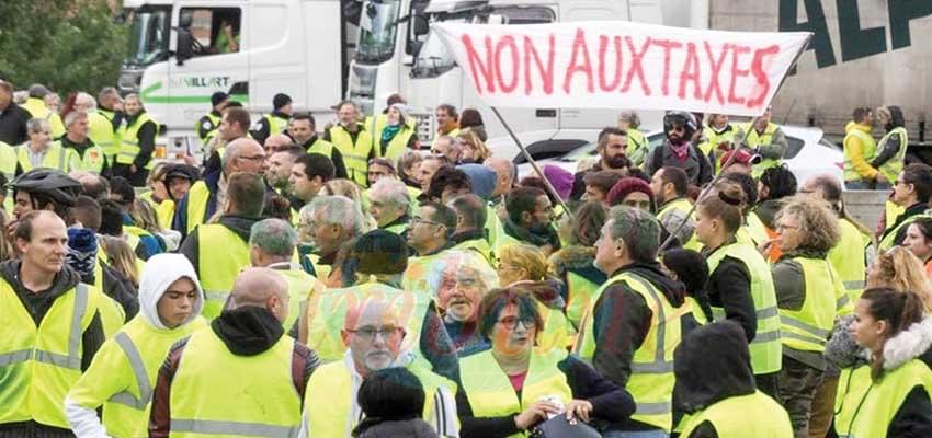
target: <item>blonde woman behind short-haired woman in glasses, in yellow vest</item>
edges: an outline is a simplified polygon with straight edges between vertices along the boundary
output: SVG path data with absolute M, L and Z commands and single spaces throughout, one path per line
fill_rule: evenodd
M 548 276 L 547 258 L 536 246 L 523 243 L 503 246 L 499 252 L 499 285 L 526 290 L 536 299 L 545 328 L 537 336 L 539 348 L 565 348 L 576 332 L 566 316 L 566 286 Z

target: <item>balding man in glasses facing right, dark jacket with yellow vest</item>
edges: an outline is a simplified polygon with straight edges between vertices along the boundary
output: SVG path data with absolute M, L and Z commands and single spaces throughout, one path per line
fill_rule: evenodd
M 258 175 L 265 172 L 265 151 L 259 142 L 240 138 L 227 145 L 221 169 L 204 175 L 203 180 L 191 186 L 178 203 L 171 228 L 185 237 L 223 209 L 228 178 L 236 172 Z

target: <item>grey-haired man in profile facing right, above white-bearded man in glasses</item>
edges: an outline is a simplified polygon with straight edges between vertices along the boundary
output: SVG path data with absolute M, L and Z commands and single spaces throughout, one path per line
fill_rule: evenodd
M 328 287 L 355 283 L 348 262 L 355 240 L 363 234 L 363 214 L 343 196 L 317 196 L 300 209 L 298 230 L 314 253 L 302 261 L 305 270 Z

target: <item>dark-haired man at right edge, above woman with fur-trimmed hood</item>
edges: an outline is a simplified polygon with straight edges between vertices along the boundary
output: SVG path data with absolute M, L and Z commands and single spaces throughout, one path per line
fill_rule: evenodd
M 878 249 L 888 251 L 906 239 L 906 230 L 916 219 L 932 217 L 929 199 L 932 198 L 932 168 L 922 163 L 907 165 L 894 183 L 890 200 L 906 210 L 888 224 L 879 237 Z

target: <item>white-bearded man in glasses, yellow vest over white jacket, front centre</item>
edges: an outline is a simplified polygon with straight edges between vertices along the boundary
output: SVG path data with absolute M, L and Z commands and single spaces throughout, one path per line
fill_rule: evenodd
M 340 330 L 349 350 L 342 360 L 318 368 L 308 381 L 302 436 L 349 436 L 364 419 L 357 397 L 363 380 L 375 371 L 404 367 L 424 389 L 423 419 L 437 436 L 457 437 L 456 384 L 405 354 L 407 336 L 397 309 L 385 301 L 367 299 L 352 307 Z M 328 402 L 316 403 L 322 395 Z

